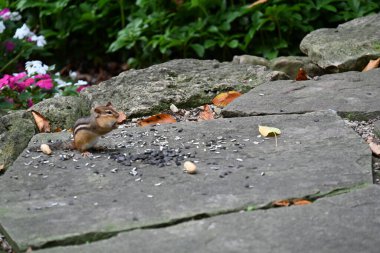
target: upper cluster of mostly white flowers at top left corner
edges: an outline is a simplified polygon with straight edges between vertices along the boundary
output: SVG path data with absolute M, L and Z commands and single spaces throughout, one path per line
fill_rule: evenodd
M 45 37 L 21 25 L 21 15 L 8 8 L 0 10 L 0 75 L 19 70 L 18 60 L 28 59 L 32 52 L 46 45 Z

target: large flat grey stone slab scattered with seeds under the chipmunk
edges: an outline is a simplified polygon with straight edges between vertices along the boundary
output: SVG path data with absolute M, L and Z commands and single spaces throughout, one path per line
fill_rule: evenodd
M 259 124 L 282 130 L 277 147 Z M 0 177 L 0 233 L 17 252 L 372 182 L 368 146 L 328 111 L 118 129 L 92 158 L 32 151 L 57 138 L 68 135 L 35 136 Z M 111 158 L 164 146 L 198 161 L 198 173 Z

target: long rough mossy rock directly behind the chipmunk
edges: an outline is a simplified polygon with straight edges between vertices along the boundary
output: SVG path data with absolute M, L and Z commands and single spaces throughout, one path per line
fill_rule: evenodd
M 278 78 L 278 72 L 263 66 L 183 59 L 123 72 L 85 89 L 83 96 L 92 102 L 112 101 L 127 115 L 146 115 L 168 110 L 170 104 L 179 108 L 200 106 L 210 103 L 221 91 L 247 92 Z

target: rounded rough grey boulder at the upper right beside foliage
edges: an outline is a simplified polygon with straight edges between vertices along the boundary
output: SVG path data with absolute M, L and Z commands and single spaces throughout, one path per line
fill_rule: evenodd
M 309 33 L 300 49 L 329 72 L 361 71 L 380 57 L 380 13 Z

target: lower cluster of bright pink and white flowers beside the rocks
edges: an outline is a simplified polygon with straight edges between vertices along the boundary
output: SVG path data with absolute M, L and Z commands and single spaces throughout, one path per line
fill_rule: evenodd
M 28 108 L 53 96 L 77 95 L 87 85 L 82 80 L 66 82 L 59 73 L 50 73 L 54 66 L 48 67 L 41 61 L 28 61 L 25 69 L 0 78 L 0 109 Z M 75 79 L 75 73 L 71 78 Z

